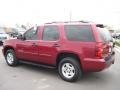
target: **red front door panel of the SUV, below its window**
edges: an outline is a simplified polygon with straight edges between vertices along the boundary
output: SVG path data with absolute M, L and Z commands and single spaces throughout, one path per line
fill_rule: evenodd
M 20 59 L 36 61 L 38 59 L 38 45 L 39 41 L 26 40 L 18 41 L 16 44 L 17 56 Z

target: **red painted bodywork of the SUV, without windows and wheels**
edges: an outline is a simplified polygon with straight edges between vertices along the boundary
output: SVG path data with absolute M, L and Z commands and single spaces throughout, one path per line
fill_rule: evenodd
M 81 42 L 81 41 L 69 41 L 64 31 L 64 25 L 90 25 L 92 33 L 94 35 L 94 42 Z M 37 63 L 44 63 L 56 66 L 57 57 L 60 53 L 71 53 L 79 57 L 80 64 L 84 72 L 96 72 L 101 71 L 109 67 L 114 63 L 114 51 L 110 54 L 107 52 L 107 56 L 96 57 L 96 50 L 98 50 L 98 43 L 105 43 L 102 41 L 100 34 L 97 31 L 96 24 L 86 23 L 58 23 L 48 24 L 56 25 L 59 28 L 59 40 L 57 41 L 44 41 L 43 32 L 44 25 L 40 26 L 38 30 L 38 40 L 20 40 L 13 39 L 4 43 L 3 53 L 7 47 L 11 47 L 15 50 L 18 58 L 26 61 L 34 61 Z M 46 26 L 46 25 L 45 25 Z M 107 43 L 105 44 L 107 45 Z M 103 47 L 100 47 L 104 50 Z M 113 47 L 111 47 L 113 48 Z M 103 52 L 102 52 L 103 53 Z M 102 55 L 102 54 L 101 54 Z M 106 55 L 106 54 L 105 54 Z

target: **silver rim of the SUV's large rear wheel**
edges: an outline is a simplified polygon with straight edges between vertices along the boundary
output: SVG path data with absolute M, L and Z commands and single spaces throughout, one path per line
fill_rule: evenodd
M 71 63 L 64 63 L 62 65 L 62 74 L 64 77 L 70 79 L 75 75 L 75 68 Z

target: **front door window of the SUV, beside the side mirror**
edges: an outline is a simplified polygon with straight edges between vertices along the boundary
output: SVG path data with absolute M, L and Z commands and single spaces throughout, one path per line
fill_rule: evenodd
M 36 30 L 34 30 L 34 28 L 31 28 L 24 34 L 25 40 L 38 40 L 37 32 L 38 32 L 38 27 Z

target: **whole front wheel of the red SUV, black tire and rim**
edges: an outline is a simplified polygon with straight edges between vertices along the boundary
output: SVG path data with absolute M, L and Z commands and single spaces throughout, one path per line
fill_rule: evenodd
M 8 49 L 6 51 L 5 59 L 9 66 L 17 66 L 19 63 L 13 49 Z

